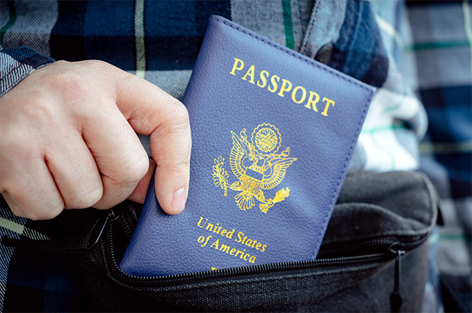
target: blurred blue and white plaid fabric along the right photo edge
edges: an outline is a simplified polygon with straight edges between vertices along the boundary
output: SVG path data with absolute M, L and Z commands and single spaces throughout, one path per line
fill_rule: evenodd
M 437 239 L 444 307 L 471 312 L 472 20 L 470 1 L 411 3 L 414 90 L 428 112 L 421 170 L 441 196 Z

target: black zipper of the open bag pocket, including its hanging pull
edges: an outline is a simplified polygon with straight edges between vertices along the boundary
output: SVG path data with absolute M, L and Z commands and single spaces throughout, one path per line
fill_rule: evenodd
M 434 216 L 433 219 L 437 220 L 439 216 L 439 200 L 437 193 L 432 187 L 432 184 L 425 179 L 425 184 L 427 185 L 428 190 L 430 191 L 431 196 L 431 205 L 434 207 Z M 137 286 L 143 287 L 143 285 L 153 285 L 153 284 L 176 284 L 179 282 L 192 282 L 195 280 L 206 280 L 206 279 L 217 279 L 225 278 L 231 276 L 241 276 L 241 275 L 250 275 L 257 273 L 268 273 L 274 271 L 290 271 L 295 269 L 304 269 L 304 268 L 316 268 L 321 266 L 335 266 L 335 265 L 344 265 L 344 264 L 355 264 L 359 262 L 375 262 L 375 261 L 386 261 L 389 259 L 395 258 L 395 272 L 394 272 L 394 287 L 390 296 L 391 312 L 400 312 L 402 305 L 402 296 L 400 293 L 400 282 L 401 282 L 401 259 L 402 256 L 408 250 L 412 250 L 421 244 L 425 243 L 432 234 L 434 227 L 431 227 L 421 239 L 416 241 L 410 241 L 402 243 L 400 241 L 394 241 L 393 239 L 371 239 L 366 241 L 361 241 L 359 243 L 349 243 L 343 246 L 338 246 L 336 248 L 331 248 L 328 250 L 322 250 L 318 254 L 318 257 L 323 257 L 323 255 L 339 255 L 346 252 L 359 252 L 365 248 L 375 247 L 376 250 L 380 252 L 364 254 L 364 255 L 353 255 L 350 257 L 328 257 L 321 259 L 311 259 L 307 261 L 300 262 L 284 262 L 284 263 L 275 263 L 275 264 L 261 264 L 256 266 L 245 266 L 239 268 L 223 268 L 218 271 L 204 271 L 198 273 L 183 273 L 175 275 L 165 275 L 165 276 L 136 276 L 130 275 L 122 271 L 120 266 L 118 266 L 117 260 L 115 259 L 115 251 L 113 246 L 113 221 L 119 220 L 119 216 L 115 216 L 113 210 L 109 212 L 110 221 L 106 230 L 106 242 L 108 255 L 111 256 L 111 273 L 115 278 L 122 278 L 129 284 L 136 284 Z M 124 217 L 121 216 L 123 219 Z M 122 223 L 120 223 L 122 225 Z M 127 232 L 128 233 L 128 232 Z

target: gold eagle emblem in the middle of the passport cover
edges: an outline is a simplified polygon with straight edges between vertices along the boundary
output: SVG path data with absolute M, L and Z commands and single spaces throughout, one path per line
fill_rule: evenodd
M 272 199 L 266 199 L 263 190 L 272 189 L 278 186 L 284 180 L 286 170 L 297 159 L 289 158 L 290 148 L 277 153 L 282 144 L 282 138 L 274 125 L 258 125 L 250 141 L 247 140 L 246 129 L 243 129 L 239 136 L 231 131 L 233 147 L 229 154 L 229 165 L 234 176 L 239 180 L 229 184 L 227 178 L 228 172 L 225 170 L 225 158 L 222 156 L 214 159 L 213 165 L 213 183 L 225 190 L 240 191 L 234 196 L 234 200 L 241 210 L 247 210 L 254 207 L 254 198 L 262 202 L 259 209 L 267 213 L 268 209 L 275 203 L 281 202 L 288 197 L 290 189 L 282 188 Z

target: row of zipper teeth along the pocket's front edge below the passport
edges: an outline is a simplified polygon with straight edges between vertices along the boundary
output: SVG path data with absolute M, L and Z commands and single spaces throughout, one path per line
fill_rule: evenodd
M 374 259 L 384 259 L 386 257 L 385 253 L 375 253 L 371 255 L 359 255 L 353 257 L 336 257 L 332 259 L 312 259 L 307 261 L 298 261 L 298 262 L 285 262 L 285 263 L 273 263 L 273 264 L 260 264 L 256 266 L 245 266 L 240 268 L 222 268 L 218 271 L 204 271 L 204 272 L 197 272 L 197 273 L 183 273 L 183 274 L 174 274 L 174 275 L 166 275 L 166 276 L 135 276 L 122 271 L 122 269 L 118 266 L 114 247 L 113 247 L 113 240 L 112 239 L 112 227 L 110 225 L 107 230 L 107 241 L 108 241 L 108 249 L 110 250 L 111 261 L 113 263 L 115 271 L 130 280 L 139 280 L 141 282 L 165 282 L 165 281 L 184 281 L 190 279 L 206 279 L 206 278 L 224 278 L 226 276 L 233 276 L 233 275 L 247 275 L 247 274 L 254 274 L 254 273 L 266 273 L 268 271 L 282 271 L 282 270 L 290 270 L 293 267 L 297 269 L 302 268 L 309 268 L 314 266 L 329 266 L 329 265 L 336 265 L 336 264 L 345 264 L 348 262 L 361 262 L 361 261 L 373 261 Z

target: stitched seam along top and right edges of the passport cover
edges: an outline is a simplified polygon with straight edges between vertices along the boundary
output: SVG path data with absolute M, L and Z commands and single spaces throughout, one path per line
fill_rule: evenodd
M 247 31 L 246 29 L 241 29 L 240 27 L 236 26 L 236 25 L 233 25 L 233 24 L 229 24 L 228 22 L 222 20 L 222 19 L 219 19 L 218 17 L 213 17 L 213 19 L 217 22 L 220 22 L 226 26 L 229 26 L 231 27 L 232 29 L 236 29 L 236 31 L 241 31 L 242 33 L 245 33 L 246 35 L 250 35 L 252 38 L 255 38 L 261 42 L 264 42 L 266 43 L 267 45 L 269 45 L 270 47 L 273 47 L 275 49 L 279 49 L 283 52 L 285 52 L 286 54 L 290 55 L 290 56 L 293 56 L 295 58 L 298 58 L 300 59 L 301 61 L 304 61 L 305 63 L 308 63 L 310 65 L 313 65 L 315 67 L 318 67 L 318 69 L 320 70 L 324 70 L 325 72 L 328 72 L 329 74 L 333 74 L 335 77 L 339 77 L 340 79 L 343 79 L 344 81 L 347 81 L 348 83 L 352 83 L 353 85 L 355 86 L 358 86 L 360 87 L 361 89 L 364 89 L 366 90 L 368 93 L 369 93 L 369 97 L 367 99 L 367 102 L 366 104 L 364 105 L 364 111 L 362 112 L 362 115 L 361 115 L 361 119 L 359 121 L 359 125 L 357 127 L 357 131 L 356 131 L 356 135 L 354 136 L 354 138 L 352 138 L 352 143 L 351 143 L 351 146 L 349 148 L 349 152 L 348 152 L 348 155 L 345 159 L 345 163 L 344 163 L 344 166 L 343 166 L 343 170 L 341 172 L 341 176 L 338 178 L 338 182 L 336 184 L 336 188 L 334 188 L 334 193 L 332 195 L 332 198 L 331 198 L 331 206 L 333 206 L 334 204 L 334 201 L 335 201 L 335 198 L 336 198 L 336 193 L 338 193 L 339 191 L 339 188 L 341 188 L 340 184 L 341 184 L 341 179 L 342 177 L 345 175 L 345 172 L 347 170 L 347 166 L 348 166 L 348 162 L 349 162 L 349 157 L 350 155 L 352 154 L 352 149 L 353 147 L 355 146 L 355 143 L 356 143 L 356 139 L 357 139 L 357 135 L 359 135 L 359 131 L 361 130 L 361 126 L 362 126 L 362 121 L 364 121 L 364 118 L 366 116 L 366 112 L 367 112 L 367 108 L 368 108 L 368 104 L 371 102 L 371 99 L 373 97 L 373 92 L 372 90 L 370 90 L 369 88 L 367 88 L 366 86 L 363 86 L 361 85 L 360 83 L 357 83 L 357 81 L 353 81 L 351 79 L 348 79 L 348 77 L 344 77 L 344 76 L 341 76 L 339 73 L 337 72 L 334 72 L 333 70 L 330 70 L 329 67 L 324 67 L 324 66 L 320 66 L 318 65 L 315 61 L 313 60 L 309 60 L 306 58 L 306 56 L 300 56 L 298 54 L 295 54 L 295 51 L 291 51 L 291 50 L 288 50 L 286 49 L 285 47 L 282 47 L 282 46 L 279 46 L 277 44 L 275 44 L 274 42 L 270 42 L 264 38 L 260 38 L 259 35 L 255 34 L 255 33 L 252 33 L 250 31 Z M 326 216 L 325 216 L 325 220 L 323 221 L 323 225 L 322 227 L 320 228 L 320 232 L 318 234 L 318 241 L 316 241 L 316 245 L 315 245 L 315 251 L 318 251 L 318 248 L 320 246 L 320 236 L 321 236 L 321 232 L 323 232 L 323 230 L 325 230 L 326 228 L 326 225 L 327 225 L 327 222 L 329 220 L 329 214 L 331 213 L 331 211 L 327 211 L 326 213 Z

